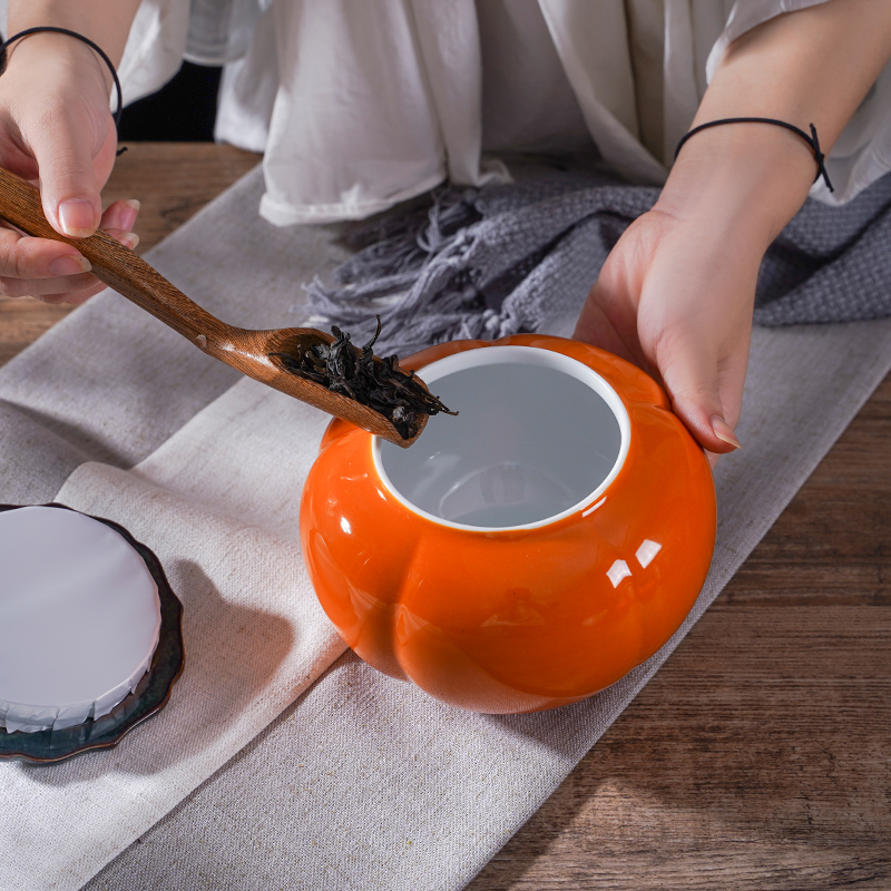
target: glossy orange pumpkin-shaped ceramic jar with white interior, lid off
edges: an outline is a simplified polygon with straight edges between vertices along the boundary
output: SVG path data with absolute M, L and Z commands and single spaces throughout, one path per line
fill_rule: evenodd
M 319 599 L 381 672 L 462 708 L 554 708 L 681 626 L 715 540 L 703 450 L 643 371 L 577 341 L 425 350 L 457 418 L 410 449 L 329 427 L 303 492 Z

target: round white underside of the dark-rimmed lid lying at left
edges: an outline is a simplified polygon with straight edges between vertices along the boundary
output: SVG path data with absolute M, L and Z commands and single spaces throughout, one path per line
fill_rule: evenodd
M 160 601 L 114 529 L 59 508 L 0 512 L 0 725 L 61 730 L 111 711 L 148 670 Z

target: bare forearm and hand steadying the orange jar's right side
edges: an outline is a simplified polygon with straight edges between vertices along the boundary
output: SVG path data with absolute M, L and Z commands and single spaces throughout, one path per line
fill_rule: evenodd
M 740 117 L 816 121 L 829 151 L 888 62 L 890 38 L 891 8 L 869 0 L 771 18 L 726 48 L 692 126 Z M 758 266 L 814 174 L 810 146 L 784 128 L 697 134 L 654 209 L 616 244 L 579 317 L 576 336 L 658 378 L 713 453 L 738 448 L 733 428 Z

